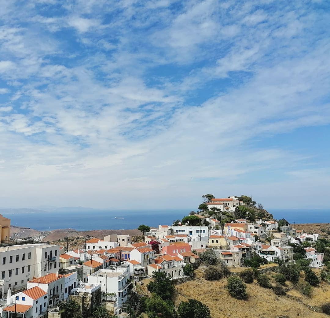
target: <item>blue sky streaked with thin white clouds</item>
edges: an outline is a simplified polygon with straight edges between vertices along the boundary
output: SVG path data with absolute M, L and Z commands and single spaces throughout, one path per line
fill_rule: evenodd
M 329 1 L 0 7 L 0 206 L 330 207 Z

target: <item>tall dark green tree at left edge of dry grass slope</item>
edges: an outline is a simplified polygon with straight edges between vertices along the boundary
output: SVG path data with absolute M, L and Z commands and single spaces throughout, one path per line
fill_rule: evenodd
M 147 285 L 149 292 L 155 293 L 163 300 L 172 299 L 174 286 L 170 275 L 165 272 L 153 272 L 151 277 L 153 281 Z

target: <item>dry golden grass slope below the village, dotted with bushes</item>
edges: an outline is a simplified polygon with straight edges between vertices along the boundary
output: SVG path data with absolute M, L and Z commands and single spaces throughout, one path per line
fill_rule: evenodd
M 267 275 L 275 285 L 273 279 L 275 273 L 270 272 Z M 303 304 L 286 296 L 276 296 L 271 289 L 260 287 L 256 280 L 252 284 L 247 284 L 248 300 L 236 300 L 228 294 L 226 278 L 207 281 L 203 278 L 203 267 L 195 271 L 195 276 L 194 280 L 175 286 L 174 302 L 178 305 L 180 301 L 186 301 L 189 298 L 202 301 L 210 307 L 212 318 L 277 318 L 283 315 L 288 315 L 290 318 L 329 317 L 326 314 L 311 311 Z M 303 272 L 301 279 L 303 279 Z M 140 292 L 149 294 L 146 286 L 149 281 L 150 279 L 145 279 L 144 284 L 138 287 Z M 287 288 L 292 286 L 291 283 L 286 283 Z M 330 301 L 330 285 L 321 283 L 320 287 L 314 288 L 312 298 L 300 294 L 295 289 L 289 291 L 288 294 L 299 297 L 304 303 L 318 306 Z

